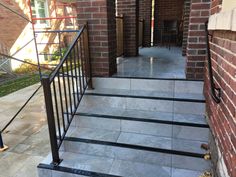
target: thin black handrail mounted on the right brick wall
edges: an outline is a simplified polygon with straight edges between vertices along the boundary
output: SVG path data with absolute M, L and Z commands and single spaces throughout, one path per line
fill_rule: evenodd
M 208 61 L 208 74 L 210 79 L 210 87 L 211 87 L 211 96 L 213 100 L 218 104 L 220 103 L 221 97 L 221 89 L 217 88 L 214 83 L 213 71 L 212 71 L 212 63 L 211 63 L 211 51 L 209 44 L 209 31 L 208 31 L 208 21 L 205 23 L 205 31 L 206 31 L 206 44 L 207 44 L 207 61 Z M 216 93 L 217 91 L 217 93 Z

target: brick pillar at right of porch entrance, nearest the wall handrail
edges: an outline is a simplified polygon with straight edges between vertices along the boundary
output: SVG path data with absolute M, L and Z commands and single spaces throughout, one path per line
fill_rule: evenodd
M 206 59 L 205 22 L 209 18 L 210 0 L 192 0 L 187 44 L 187 79 L 203 79 Z

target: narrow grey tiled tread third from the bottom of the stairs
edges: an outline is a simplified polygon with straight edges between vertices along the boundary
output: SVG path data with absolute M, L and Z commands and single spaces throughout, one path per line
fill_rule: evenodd
M 122 109 L 112 107 L 101 107 L 95 105 L 93 107 L 80 106 L 77 110 L 78 115 L 86 116 L 97 116 L 97 117 L 108 117 L 114 119 L 125 119 L 125 120 L 136 120 L 147 122 L 161 122 L 166 121 L 169 124 L 184 123 L 184 124 L 199 124 L 207 125 L 206 118 L 204 115 L 193 115 L 193 114 L 181 114 L 173 112 L 159 112 L 159 111 L 145 111 L 145 110 L 133 110 L 133 109 Z

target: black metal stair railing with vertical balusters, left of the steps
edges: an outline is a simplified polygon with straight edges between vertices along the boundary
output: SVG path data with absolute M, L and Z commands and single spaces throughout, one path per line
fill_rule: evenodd
M 92 88 L 88 26 L 78 32 L 69 50 L 49 77 L 42 78 L 53 164 L 87 88 Z

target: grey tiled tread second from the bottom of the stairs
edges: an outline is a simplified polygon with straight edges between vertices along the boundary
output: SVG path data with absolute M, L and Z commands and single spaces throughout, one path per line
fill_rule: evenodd
M 109 126 L 109 124 L 106 124 L 106 126 Z M 102 129 L 101 126 L 97 126 L 99 128 L 89 127 L 81 123 L 81 126 L 75 127 L 75 130 L 67 134 L 67 137 L 130 144 L 167 151 L 181 151 L 190 154 L 196 153 L 197 156 L 206 153 L 201 149 L 201 144 L 207 143 L 208 140 L 209 132 L 206 128 L 158 127 L 152 124 L 142 126 L 128 124 L 122 130 L 118 130 L 114 126 L 114 122 L 107 129 Z M 148 128 L 155 128 L 155 130 L 149 130 Z M 186 134 L 189 134 L 190 137 Z

